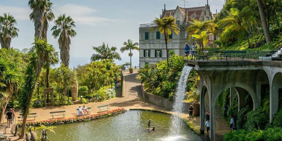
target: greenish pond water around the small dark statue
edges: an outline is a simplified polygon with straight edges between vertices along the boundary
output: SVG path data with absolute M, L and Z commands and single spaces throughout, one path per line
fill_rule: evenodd
M 147 131 L 147 120 L 155 131 Z M 96 119 L 88 122 L 55 125 L 56 134 L 48 133 L 52 141 L 182 141 L 199 140 L 183 121 L 178 135 L 169 135 L 171 115 L 142 110 Z

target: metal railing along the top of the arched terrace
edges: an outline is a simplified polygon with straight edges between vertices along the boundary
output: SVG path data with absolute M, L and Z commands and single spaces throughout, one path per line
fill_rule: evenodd
M 282 50 L 189 50 L 183 56 L 186 60 L 207 61 L 280 61 L 282 62 Z

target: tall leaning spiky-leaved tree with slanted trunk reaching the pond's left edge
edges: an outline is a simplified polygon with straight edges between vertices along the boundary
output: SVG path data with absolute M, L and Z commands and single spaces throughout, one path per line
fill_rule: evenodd
M 25 124 L 27 121 L 28 112 L 30 109 L 30 103 L 36 87 L 36 82 L 41 74 L 41 69 L 46 62 L 50 62 L 50 58 L 47 54 L 52 52 L 52 45 L 48 44 L 46 39 L 35 38 L 33 47 L 31 50 L 34 52 L 30 53 L 30 63 L 27 66 L 24 78 L 24 87 L 22 98 L 20 103 L 22 104 L 21 114 L 23 114 L 23 127 L 21 132 L 21 138 L 25 138 Z M 37 56 L 37 57 L 36 57 Z

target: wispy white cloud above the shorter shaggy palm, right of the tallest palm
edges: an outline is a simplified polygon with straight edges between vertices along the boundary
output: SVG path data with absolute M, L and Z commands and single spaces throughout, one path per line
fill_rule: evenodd
M 71 16 L 77 25 L 97 25 L 99 23 L 114 22 L 115 19 L 106 17 L 94 16 L 96 10 L 87 6 L 66 4 L 61 7 L 55 8 L 56 16 L 66 14 Z

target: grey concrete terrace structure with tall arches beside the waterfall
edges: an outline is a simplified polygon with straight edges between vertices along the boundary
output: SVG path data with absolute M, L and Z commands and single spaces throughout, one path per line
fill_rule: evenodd
M 231 97 L 238 93 L 239 109 L 245 105 L 246 91 L 252 96 L 253 109 L 257 109 L 261 105 L 261 88 L 267 85 L 270 88 L 270 121 L 277 112 L 278 97 L 282 90 L 281 61 L 245 59 L 184 62 L 185 65 L 193 67 L 200 76 L 200 130 L 204 133 L 204 103 L 208 103 L 211 140 L 215 140 L 215 102 L 219 94 L 226 89 L 230 89 Z

